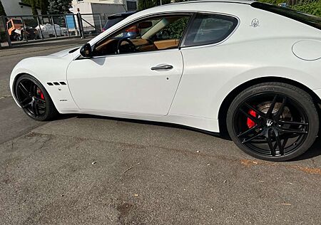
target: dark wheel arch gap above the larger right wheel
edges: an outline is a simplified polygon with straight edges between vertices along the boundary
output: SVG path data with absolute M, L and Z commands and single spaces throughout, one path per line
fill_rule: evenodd
M 238 87 L 234 88 L 223 100 L 222 104 L 220 105 L 220 109 L 218 111 L 218 125 L 220 128 L 220 133 L 221 135 L 223 135 L 223 137 L 229 137 L 228 135 L 228 129 L 227 129 L 227 125 L 226 125 L 226 117 L 228 114 L 228 108 L 230 108 L 230 104 L 232 103 L 232 101 L 234 100 L 234 98 L 243 90 L 245 90 L 246 88 L 250 88 L 250 86 L 253 85 L 258 85 L 260 83 L 265 83 L 265 82 L 280 82 L 280 83 L 287 83 L 290 85 L 294 85 L 297 88 L 300 88 L 302 90 L 305 90 L 305 92 L 307 92 L 313 100 L 313 103 L 315 103 L 315 106 L 318 110 L 319 113 L 319 117 L 321 115 L 321 110 L 318 104 L 321 104 L 321 99 L 319 98 L 319 96 L 317 96 L 317 94 L 315 92 L 313 92 L 313 90 L 311 90 L 310 88 L 308 88 L 306 85 L 303 85 L 302 83 L 299 83 L 295 80 L 291 80 L 288 78 L 281 78 L 281 77 L 274 77 L 274 76 L 270 76 L 270 77 L 263 77 L 263 78 L 255 78 L 253 80 L 248 80 L 245 83 L 242 83 L 241 85 L 238 85 Z

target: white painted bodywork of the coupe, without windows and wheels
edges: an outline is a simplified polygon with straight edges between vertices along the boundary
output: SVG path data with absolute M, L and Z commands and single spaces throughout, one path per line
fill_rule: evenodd
M 239 25 L 225 41 L 207 46 L 78 61 L 79 50 L 28 58 L 14 68 L 11 91 L 16 76 L 29 73 L 44 84 L 61 113 L 172 122 L 210 132 L 220 131 L 223 100 L 249 80 L 287 78 L 321 98 L 320 58 L 306 61 L 292 52 L 300 41 L 321 41 L 321 31 L 250 3 L 198 1 L 140 11 L 93 38 L 91 46 L 128 23 L 163 12 L 227 14 L 237 17 Z M 254 20 L 258 26 L 253 26 Z M 315 48 L 307 54 L 321 52 L 320 45 Z M 158 64 L 170 64 L 174 70 L 152 71 Z M 68 85 L 46 85 L 54 81 Z

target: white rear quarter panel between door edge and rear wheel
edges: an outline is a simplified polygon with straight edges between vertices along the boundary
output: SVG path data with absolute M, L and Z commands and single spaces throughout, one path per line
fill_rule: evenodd
M 218 119 L 225 97 L 255 78 L 282 77 L 321 88 L 321 61 L 303 61 L 292 53 L 297 41 L 321 40 L 320 30 L 246 5 L 218 13 L 236 16 L 240 24 L 223 43 L 182 48 L 183 78 L 170 114 Z M 259 26 L 251 26 L 253 19 Z

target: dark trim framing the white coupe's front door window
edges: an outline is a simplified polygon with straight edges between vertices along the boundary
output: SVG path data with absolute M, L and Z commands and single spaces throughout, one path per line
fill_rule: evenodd
M 123 30 L 123 28 L 126 28 L 126 26 L 130 26 L 133 23 L 139 23 L 140 21 L 143 21 L 145 19 L 153 19 L 153 18 L 157 18 L 160 16 L 189 16 L 189 20 L 188 20 L 188 25 L 185 28 L 185 31 L 183 32 L 183 36 L 185 36 L 185 33 L 187 31 L 188 26 L 190 26 L 190 23 L 193 19 L 195 12 L 193 11 L 170 11 L 170 12 L 161 12 L 161 13 L 157 13 L 157 14 L 148 14 L 146 16 L 141 16 L 139 18 L 133 19 L 131 21 L 128 21 L 128 23 L 123 24 L 123 26 L 121 26 L 120 28 L 116 29 L 116 31 L 113 31 L 111 33 L 109 33 L 107 36 L 101 38 L 100 40 L 96 41 L 95 43 L 93 43 L 91 45 L 91 49 L 93 50 L 96 46 L 97 43 L 106 40 L 108 38 L 111 38 L 112 36 L 114 36 L 116 33 L 118 33 L 119 31 Z M 182 43 L 183 38 L 180 39 L 180 43 Z M 170 49 L 161 49 L 158 51 L 173 51 L 173 50 L 180 50 L 180 43 L 178 43 L 178 47 L 177 48 L 170 48 Z M 141 52 L 141 53 L 150 53 L 150 52 L 154 52 L 154 51 L 146 51 L 146 52 Z M 116 55 L 103 55 L 103 56 L 93 56 L 93 58 L 105 58 L 105 57 L 110 57 L 110 56 L 124 56 L 124 55 L 134 55 L 134 54 L 140 54 L 139 52 L 137 53 L 125 53 L 125 54 L 116 54 Z M 81 60 L 84 59 L 81 57 L 81 54 L 79 54 L 75 60 Z

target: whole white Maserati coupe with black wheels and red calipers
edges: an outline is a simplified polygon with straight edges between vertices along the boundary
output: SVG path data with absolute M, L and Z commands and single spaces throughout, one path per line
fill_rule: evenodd
M 282 161 L 319 132 L 321 19 L 257 1 L 139 11 L 81 48 L 27 58 L 11 93 L 34 120 L 86 113 L 228 132 Z

